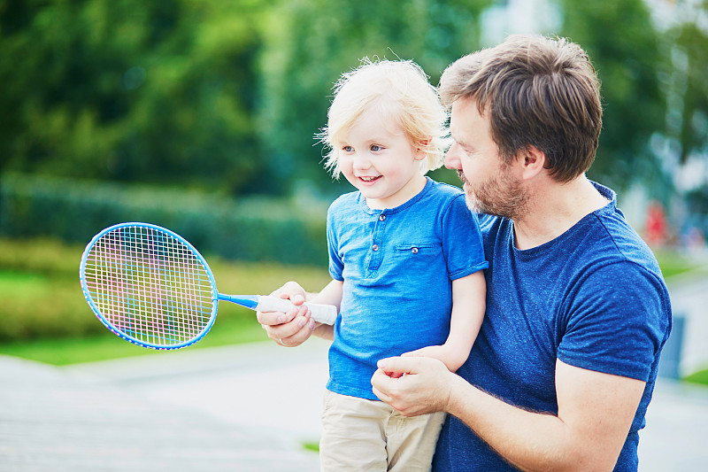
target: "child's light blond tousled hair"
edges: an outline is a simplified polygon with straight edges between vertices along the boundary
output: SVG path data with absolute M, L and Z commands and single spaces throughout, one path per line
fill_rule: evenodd
M 447 112 L 427 75 L 410 60 L 361 60 L 358 68 L 342 74 L 335 83 L 335 99 L 327 112 L 327 127 L 318 137 L 329 148 L 325 167 L 338 179 L 339 149 L 335 142 L 376 106 L 402 128 L 414 149 L 425 151 L 420 173 L 443 165 Z

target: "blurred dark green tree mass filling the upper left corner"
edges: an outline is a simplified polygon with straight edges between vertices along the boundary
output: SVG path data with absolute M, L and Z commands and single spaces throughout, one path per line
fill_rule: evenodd
M 257 190 L 263 2 L 0 4 L 0 155 L 35 173 Z

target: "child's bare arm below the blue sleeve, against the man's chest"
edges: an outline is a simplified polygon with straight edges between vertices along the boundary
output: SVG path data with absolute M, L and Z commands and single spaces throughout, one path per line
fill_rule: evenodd
M 442 360 L 450 372 L 465 363 L 472 350 L 474 339 L 480 332 L 487 298 L 484 271 L 478 271 L 452 281 L 452 314 L 450 335 L 445 344 L 427 346 L 404 356 L 425 356 Z

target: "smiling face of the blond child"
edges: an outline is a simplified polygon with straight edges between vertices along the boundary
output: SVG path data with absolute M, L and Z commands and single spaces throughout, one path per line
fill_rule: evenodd
M 425 187 L 419 171 L 425 152 L 415 149 L 404 130 L 375 107 L 362 113 L 336 145 L 342 174 L 371 208 L 403 205 Z

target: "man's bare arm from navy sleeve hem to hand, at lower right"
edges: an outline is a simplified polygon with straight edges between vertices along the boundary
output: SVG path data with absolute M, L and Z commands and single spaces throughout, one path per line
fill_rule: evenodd
M 453 414 L 496 453 L 525 470 L 612 470 L 645 385 L 558 360 L 555 415 L 495 398 L 450 373 L 440 360 L 394 357 L 380 360 L 378 367 L 372 385 L 381 400 L 405 416 Z

